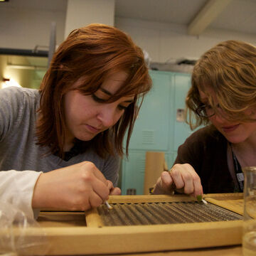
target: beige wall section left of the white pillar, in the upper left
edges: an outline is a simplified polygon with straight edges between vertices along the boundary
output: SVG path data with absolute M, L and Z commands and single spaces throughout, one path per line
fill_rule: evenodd
M 66 15 L 65 1 L 61 5 L 63 6 L 61 9 L 50 10 L 38 10 L 36 6 L 24 9 L 21 0 L 16 0 L 16 2 L 21 2 L 21 5 L 15 8 L 0 3 L 0 48 L 32 50 L 36 46 L 49 46 L 52 21 L 55 21 L 57 26 L 57 42 L 63 41 Z M 41 49 L 48 50 L 47 48 Z

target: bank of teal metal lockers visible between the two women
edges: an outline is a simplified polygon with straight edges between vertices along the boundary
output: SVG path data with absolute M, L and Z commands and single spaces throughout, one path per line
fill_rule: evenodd
M 170 168 L 179 144 L 191 133 L 179 116 L 185 109 L 191 75 L 154 70 L 150 75 L 153 88 L 144 98 L 135 122 L 129 159 L 122 160 L 122 194 L 128 189 L 143 193 L 146 151 L 164 151 Z

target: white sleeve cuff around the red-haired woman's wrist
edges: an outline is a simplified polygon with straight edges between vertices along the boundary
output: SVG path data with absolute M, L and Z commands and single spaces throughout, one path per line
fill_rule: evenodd
M 34 218 L 33 189 L 41 173 L 41 171 L 0 171 L 0 201 L 11 203 L 29 218 Z

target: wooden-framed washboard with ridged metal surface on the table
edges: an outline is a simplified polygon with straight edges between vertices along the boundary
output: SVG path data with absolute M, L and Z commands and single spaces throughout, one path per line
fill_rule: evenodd
M 41 211 L 38 223 L 48 255 L 112 255 L 238 245 L 242 193 L 207 194 L 207 205 L 188 196 L 110 196 L 82 212 Z M 86 221 L 85 221 L 86 215 Z

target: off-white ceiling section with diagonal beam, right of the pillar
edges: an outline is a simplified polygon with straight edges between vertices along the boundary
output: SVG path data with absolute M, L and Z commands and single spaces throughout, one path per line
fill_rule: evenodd
M 225 3 L 227 6 L 221 6 Z M 256 33 L 256 0 L 116 0 L 115 7 L 115 15 L 119 17 L 188 27 L 196 17 L 205 25 L 215 12 L 208 25 L 210 28 Z M 206 17 L 200 16 L 202 10 Z

